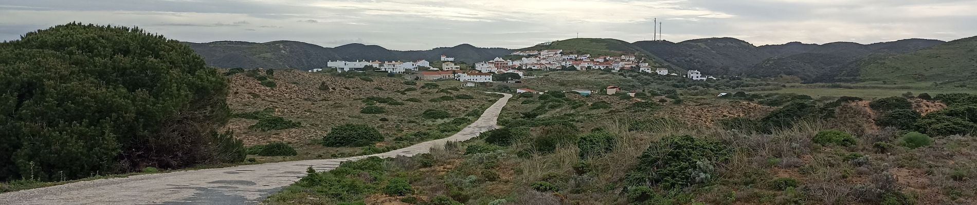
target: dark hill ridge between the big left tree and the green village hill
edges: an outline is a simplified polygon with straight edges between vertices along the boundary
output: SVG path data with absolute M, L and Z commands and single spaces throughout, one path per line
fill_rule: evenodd
M 380 46 L 362 44 L 323 48 L 293 41 L 268 43 L 223 41 L 202 44 L 184 42 L 184 44 L 189 45 L 197 54 L 202 56 L 208 65 L 215 67 L 294 68 L 299 70 L 325 67 L 326 62 L 334 60 L 415 61 L 426 59 L 433 62 L 440 60 L 442 54 L 446 54 L 454 57 L 456 61 L 477 62 L 512 52 L 508 49 L 476 48 L 467 44 L 428 51 L 393 51 Z

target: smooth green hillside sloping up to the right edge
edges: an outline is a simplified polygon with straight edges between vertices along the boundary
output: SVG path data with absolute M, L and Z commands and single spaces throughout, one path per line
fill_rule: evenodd
M 867 81 L 904 80 L 954 82 L 977 77 L 977 36 L 919 51 L 860 60 L 856 66 Z

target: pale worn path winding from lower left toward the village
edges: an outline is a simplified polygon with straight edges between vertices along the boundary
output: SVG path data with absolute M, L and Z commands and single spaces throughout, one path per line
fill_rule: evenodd
M 0 204 L 256 204 L 306 175 L 309 166 L 332 170 L 339 162 L 369 156 L 411 156 L 430 152 L 448 141 L 465 141 L 496 128 L 498 114 L 512 97 L 505 94 L 479 120 L 445 139 L 383 154 L 242 165 L 163 174 L 130 176 L 34 188 L 0 194 Z

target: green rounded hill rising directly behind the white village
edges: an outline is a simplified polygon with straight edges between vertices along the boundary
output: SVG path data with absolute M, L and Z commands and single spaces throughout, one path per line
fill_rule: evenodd
M 682 69 L 681 66 L 675 66 L 668 61 L 658 57 L 652 52 L 645 51 L 636 45 L 627 43 L 625 41 L 616 39 L 592 39 L 592 38 L 575 38 L 563 41 L 553 42 L 549 46 L 533 46 L 526 49 L 520 49 L 516 51 L 541 51 L 541 50 L 563 50 L 564 53 L 576 53 L 576 54 L 591 54 L 591 55 L 621 55 L 621 54 L 635 54 L 635 56 L 641 58 L 652 59 L 651 63 L 656 67 L 667 67 L 671 69 Z

